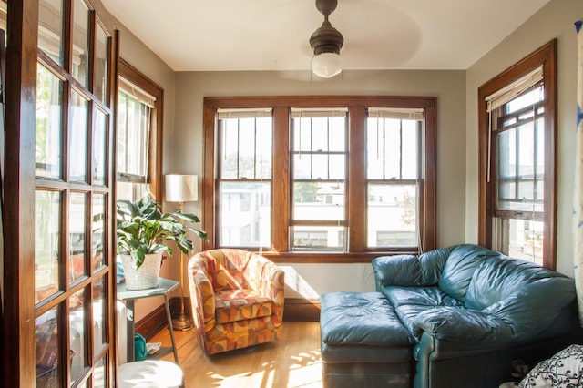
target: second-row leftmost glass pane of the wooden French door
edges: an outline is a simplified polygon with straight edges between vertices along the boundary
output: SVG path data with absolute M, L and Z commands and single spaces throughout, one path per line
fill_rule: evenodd
M 61 93 L 63 83 L 38 64 L 36 70 L 36 175 L 61 177 Z

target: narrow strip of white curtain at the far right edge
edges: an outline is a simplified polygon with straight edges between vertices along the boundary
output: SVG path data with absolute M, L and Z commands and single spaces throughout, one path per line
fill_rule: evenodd
M 577 288 L 579 322 L 583 325 L 583 20 L 575 23 L 577 27 L 577 151 L 575 159 L 575 193 L 573 195 L 573 214 L 575 216 L 573 236 L 573 265 Z

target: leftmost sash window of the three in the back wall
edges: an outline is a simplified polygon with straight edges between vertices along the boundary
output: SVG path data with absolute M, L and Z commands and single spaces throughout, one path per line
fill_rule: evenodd
M 218 232 L 222 247 L 268 247 L 271 236 L 271 109 L 218 111 Z

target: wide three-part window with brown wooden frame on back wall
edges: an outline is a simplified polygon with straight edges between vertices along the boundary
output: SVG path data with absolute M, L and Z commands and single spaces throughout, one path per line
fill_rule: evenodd
M 434 97 L 205 98 L 205 248 L 367 261 L 435 248 Z

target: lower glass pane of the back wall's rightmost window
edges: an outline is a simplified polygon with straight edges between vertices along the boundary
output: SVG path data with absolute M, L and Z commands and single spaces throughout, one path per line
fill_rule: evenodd
M 369 184 L 367 232 L 369 247 L 418 245 L 415 185 Z

